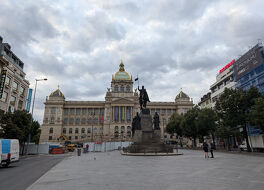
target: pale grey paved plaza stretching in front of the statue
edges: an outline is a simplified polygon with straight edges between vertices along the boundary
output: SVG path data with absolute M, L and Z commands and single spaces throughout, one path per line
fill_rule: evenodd
M 181 150 L 183 156 L 122 156 L 118 151 L 64 159 L 28 190 L 263 190 L 264 157 Z

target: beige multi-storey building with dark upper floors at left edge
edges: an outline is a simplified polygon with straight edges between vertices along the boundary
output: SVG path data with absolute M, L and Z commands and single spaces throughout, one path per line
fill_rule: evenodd
M 6 70 L 0 99 L 0 114 L 7 111 L 24 110 L 29 81 L 25 79 L 24 63 L 11 51 L 8 43 L 0 38 L 1 71 Z

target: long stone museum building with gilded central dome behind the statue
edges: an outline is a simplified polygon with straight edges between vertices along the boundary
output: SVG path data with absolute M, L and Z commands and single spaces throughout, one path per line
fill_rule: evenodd
M 40 143 L 131 141 L 132 120 L 140 111 L 139 94 L 122 62 L 119 67 L 104 101 L 66 101 L 59 89 L 52 92 L 44 103 Z M 170 116 L 174 112 L 184 114 L 193 105 L 192 99 L 180 91 L 174 102 L 149 102 L 147 108 L 152 117 L 155 112 L 159 114 L 162 137 L 169 140 L 173 136 L 164 133 L 164 128 Z

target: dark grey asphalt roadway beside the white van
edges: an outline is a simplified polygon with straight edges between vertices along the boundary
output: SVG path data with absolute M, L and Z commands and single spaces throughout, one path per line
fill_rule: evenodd
M 67 155 L 28 156 L 8 168 L 0 167 L 0 189 L 24 190 L 65 157 Z

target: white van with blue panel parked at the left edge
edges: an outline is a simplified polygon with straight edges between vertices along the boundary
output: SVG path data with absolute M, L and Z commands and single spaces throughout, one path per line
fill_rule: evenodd
M 0 139 L 0 165 L 7 167 L 19 161 L 19 141 L 17 139 Z

